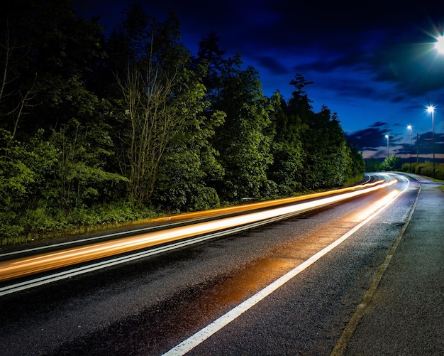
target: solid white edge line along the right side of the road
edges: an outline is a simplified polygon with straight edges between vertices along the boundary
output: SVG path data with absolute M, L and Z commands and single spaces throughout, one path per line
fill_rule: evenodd
M 237 307 L 233 308 L 228 313 L 222 315 L 217 320 L 214 320 L 213 323 L 207 325 L 205 328 L 199 330 L 197 333 L 189 337 L 187 340 L 182 341 L 179 343 L 179 345 L 173 347 L 171 350 L 165 352 L 163 356 L 179 356 L 179 355 L 185 355 L 187 352 L 192 350 L 194 347 L 199 345 L 201 342 L 204 342 L 204 340 L 208 339 L 211 335 L 216 333 L 218 330 L 221 330 L 226 325 L 231 323 L 235 318 L 238 318 L 242 313 L 245 311 L 248 311 L 252 306 L 255 306 L 255 304 L 259 303 L 264 299 L 265 297 L 269 296 L 271 293 L 277 290 L 277 288 L 283 286 L 287 283 L 290 279 L 294 278 L 294 276 L 301 273 L 301 271 L 304 271 L 304 269 L 308 268 L 313 264 L 314 262 L 318 261 L 318 259 L 321 259 L 325 254 L 328 254 L 328 252 L 331 252 L 332 249 L 337 247 L 339 244 L 345 241 L 345 239 L 348 239 L 352 234 L 357 232 L 357 230 L 360 230 L 361 227 L 366 225 L 368 222 L 370 222 L 374 217 L 379 215 L 380 212 L 382 212 L 384 209 L 386 209 L 390 204 L 394 202 L 396 198 L 399 197 L 404 191 L 409 187 L 409 184 L 407 185 L 404 190 L 401 192 L 394 191 L 394 193 L 390 200 L 388 200 L 382 207 L 380 207 L 376 212 L 374 212 L 372 215 L 367 217 L 364 221 L 360 222 L 360 224 L 353 227 L 352 230 L 347 232 L 346 234 L 343 234 L 339 239 L 335 240 L 335 242 L 332 242 L 327 247 L 324 247 L 321 249 L 321 251 L 317 252 L 316 254 L 313 254 L 312 257 L 304 261 L 303 263 L 299 264 L 295 269 L 292 269 L 292 271 L 289 271 L 287 274 L 284 274 L 284 276 L 280 277 L 276 281 L 274 281 L 272 284 L 268 285 L 261 291 L 257 292 L 255 295 L 248 298 L 243 303 L 240 303 Z

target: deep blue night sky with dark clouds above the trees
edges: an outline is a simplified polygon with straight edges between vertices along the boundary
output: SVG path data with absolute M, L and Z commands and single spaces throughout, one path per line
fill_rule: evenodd
M 91 18 L 106 33 L 123 18 L 128 1 L 86 0 Z M 289 99 L 296 73 L 315 112 L 325 104 L 338 114 L 348 139 L 365 158 L 416 154 L 444 157 L 444 54 L 434 48 L 443 35 L 441 1 L 141 0 L 148 14 L 181 21 L 182 41 L 197 53 L 214 31 L 226 57 L 240 53 L 260 75 L 262 90 Z M 395 4 L 393 4 L 395 3 Z M 426 107 L 433 104 L 433 115 Z M 407 128 L 412 126 L 411 131 Z

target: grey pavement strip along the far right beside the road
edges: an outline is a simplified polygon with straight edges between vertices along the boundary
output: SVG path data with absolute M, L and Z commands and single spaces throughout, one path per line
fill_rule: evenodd
M 444 355 L 444 192 L 420 182 L 409 222 L 332 356 Z

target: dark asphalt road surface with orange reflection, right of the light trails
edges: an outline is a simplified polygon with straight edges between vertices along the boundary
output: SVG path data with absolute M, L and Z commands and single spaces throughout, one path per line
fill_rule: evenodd
M 419 187 L 412 181 L 384 212 L 189 355 L 329 355 L 409 219 Z M 395 188 L 406 183 L 243 234 L 3 296 L 1 355 L 162 355 L 342 237 Z M 366 316 L 360 322 L 377 329 Z M 367 335 L 353 330 L 348 355 L 361 354 L 355 353 L 365 345 L 360 330 Z

